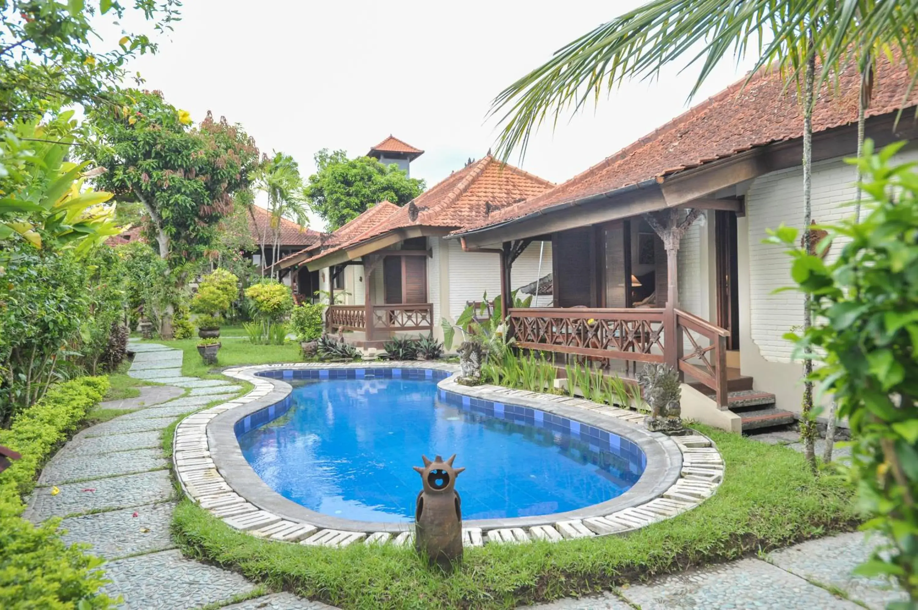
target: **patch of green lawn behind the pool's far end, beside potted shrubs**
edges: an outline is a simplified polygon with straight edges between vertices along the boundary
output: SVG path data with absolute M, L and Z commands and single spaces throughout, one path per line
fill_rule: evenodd
M 223 332 L 223 329 L 220 329 Z M 273 364 L 274 362 L 301 362 L 299 345 L 288 342 L 284 345 L 253 345 L 247 338 L 220 338 L 220 350 L 217 364 L 205 364 L 197 353 L 198 338 L 185 338 L 176 341 L 151 340 L 151 343 L 162 343 L 170 348 L 185 352 L 182 358 L 182 374 L 203 379 L 225 379 L 216 372 L 215 367 L 237 366 L 241 364 Z

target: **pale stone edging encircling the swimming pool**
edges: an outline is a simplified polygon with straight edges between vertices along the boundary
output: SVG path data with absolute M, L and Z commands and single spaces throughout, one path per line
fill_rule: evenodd
M 235 426 L 246 416 L 283 403 L 291 386 L 258 376 L 267 371 L 303 369 L 428 369 L 458 372 L 458 366 L 437 362 L 294 363 L 237 367 L 223 374 L 250 382 L 245 396 L 187 416 L 174 435 L 174 467 L 185 494 L 230 527 L 255 536 L 305 545 L 344 547 L 390 542 L 407 545 L 410 524 L 372 523 L 320 515 L 274 492 L 242 457 Z M 694 508 L 714 494 L 723 478 L 723 460 L 711 439 L 693 434 L 666 437 L 644 429 L 644 416 L 628 409 L 579 398 L 512 390 L 494 385 L 469 387 L 447 377 L 438 383 L 442 397 L 465 396 L 476 404 L 519 405 L 627 438 L 647 457 L 644 475 L 625 494 L 599 505 L 555 515 L 464 522 L 467 546 L 557 541 L 623 534 Z M 251 420 L 250 420 L 251 421 Z M 577 428 L 578 429 L 578 428 Z

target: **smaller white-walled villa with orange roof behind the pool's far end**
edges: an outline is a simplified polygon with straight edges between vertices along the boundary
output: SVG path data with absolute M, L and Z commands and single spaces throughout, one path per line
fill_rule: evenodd
M 285 282 L 294 278 L 297 294 L 303 294 L 304 278 L 318 278 L 320 290 L 332 294 L 335 303 L 328 312 L 330 329 L 346 331 L 357 345 L 381 347 L 396 334 L 432 333 L 442 339 L 442 318 L 455 320 L 484 294 L 493 298 L 506 292 L 499 273 L 502 258 L 513 259 L 510 289 L 533 283 L 552 269 L 547 242 L 505 253 L 467 248 L 446 237 L 553 186 L 488 154 L 408 205 L 384 201 L 370 207 L 276 267 Z M 542 300 L 533 305 L 551 303 L 550 297 L 538 298 Z

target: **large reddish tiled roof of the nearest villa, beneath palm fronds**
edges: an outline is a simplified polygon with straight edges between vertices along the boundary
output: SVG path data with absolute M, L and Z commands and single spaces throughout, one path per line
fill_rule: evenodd
M 902 104 L 911 83 L 904 66 L 879 61 L 868 116 L 879 116 L 918 103 L 918 88 Z M 761 72 L 749 83 L 733 83 L 661 128 L 554 189 L 500 210 L 474 226 L 487 227 L 529 215 L 545 207 L 643 183 L 667 174 L 730 157 L 744 150 L 803 135 L 797 90 L 778 72 Z M 857 121 L 859 75 L 852 67 L 837 83 L 823 88 L 813 108 L 813 132 Z M 462 231 L 457 231 L 462 232 Z

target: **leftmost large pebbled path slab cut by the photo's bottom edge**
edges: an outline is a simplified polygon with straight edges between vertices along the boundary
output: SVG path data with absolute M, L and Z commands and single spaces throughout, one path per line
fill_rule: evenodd
M 105 592 L 123 595 L 122 607 L 129 610 L 196 608 L 255 590 L 241 575 L 186 560 L 178 550 L 110 561 L 104 570 L 112 581 Z

